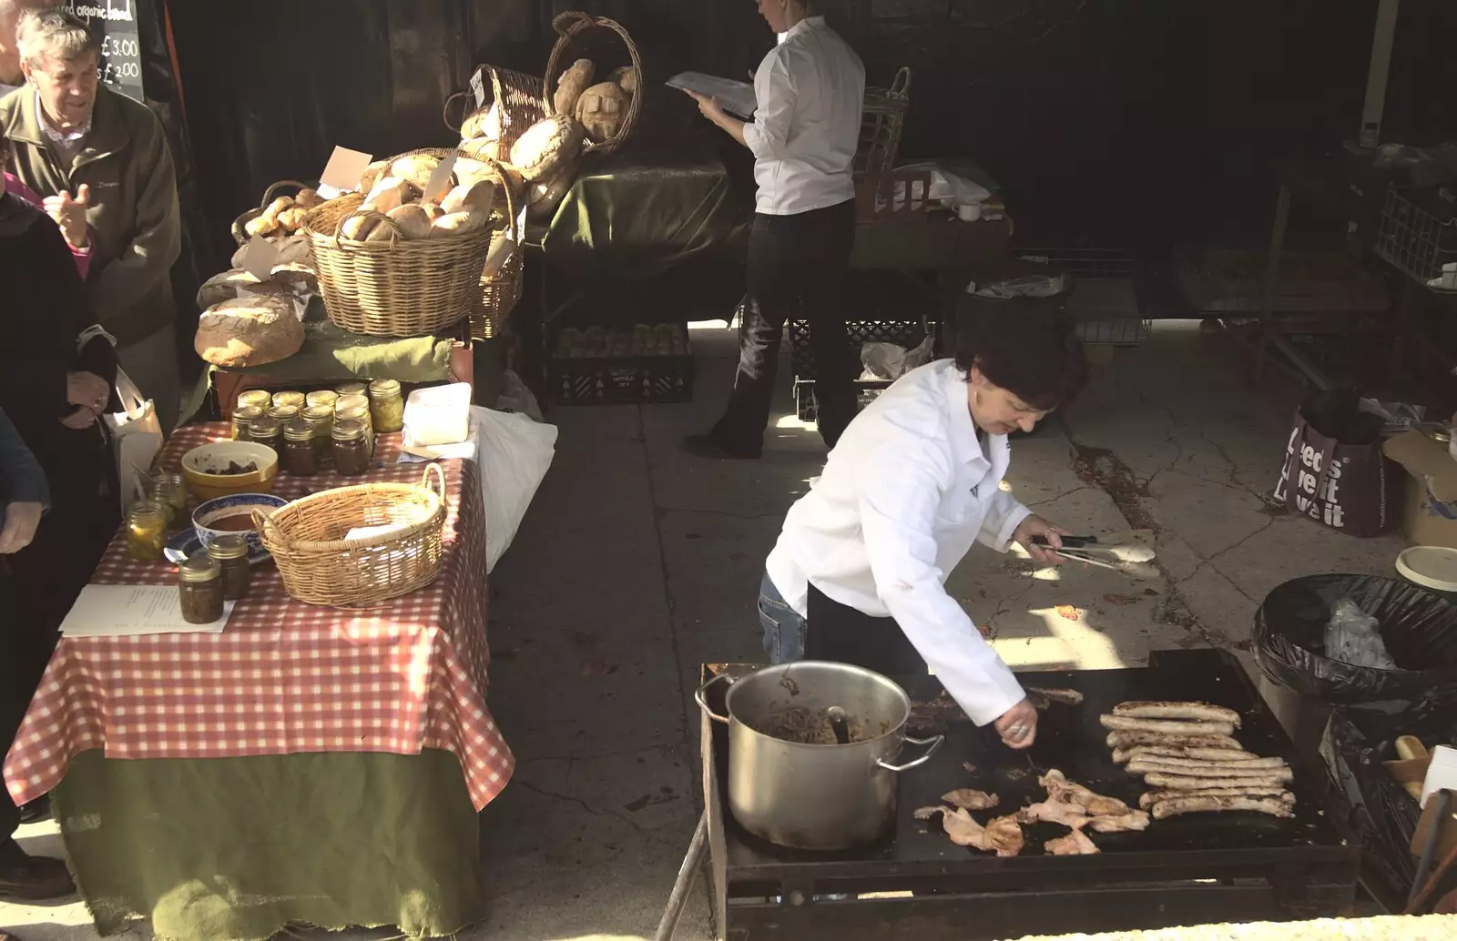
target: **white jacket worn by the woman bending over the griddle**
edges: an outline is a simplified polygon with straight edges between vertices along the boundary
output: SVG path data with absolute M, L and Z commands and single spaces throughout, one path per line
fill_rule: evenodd
M 1024 693 L 946 578 L 973 540 L 1005 552 L 1027 517 L 1001 489 L 1010 456 L 1005 436 L 988 436 L 982 452 L 954 361 L 912 370 L 849 424 L 765 562 L 801 616 L 813 583 L 833 602 L 895 618 L 978 725 Z

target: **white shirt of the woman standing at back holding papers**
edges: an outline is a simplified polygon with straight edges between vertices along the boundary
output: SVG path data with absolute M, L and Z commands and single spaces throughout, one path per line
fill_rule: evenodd
M 796 23 L 763 57 L 753 98 L 743 141 L 753 151 L 758 211 L 793 216 L 854 200 L 865 67 L 823 16 Z

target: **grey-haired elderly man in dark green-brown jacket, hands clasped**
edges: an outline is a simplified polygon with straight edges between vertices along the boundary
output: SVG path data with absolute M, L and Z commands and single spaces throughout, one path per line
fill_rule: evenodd
M 170 269 L 182 226 L 162 122 L 99 84 L 101 42 L 74 15 L 26 12 L 16 32 L 26 83 L 0 99 L 9 169 L 47 197 L 52 216 L 85 210 L 96 319 L 169 430 L 181 399 Z

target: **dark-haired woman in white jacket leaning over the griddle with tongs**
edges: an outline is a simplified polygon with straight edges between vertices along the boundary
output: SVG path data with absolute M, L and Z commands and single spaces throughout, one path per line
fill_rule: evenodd
M 785 516 L 759 619 L 774 663 L 807 657 L 880 673 L 930 664 L 972 721 L 1027 747 L 1036 709 L 946 578 L 972 542 L 1059 559 L 1064 530 L 1001 489 L 1007 436 L 1071 401 L 1087 360 L 1062 316 L 1018 302 L 959 347 L 954 360 L 906 373 L 845 431 Z

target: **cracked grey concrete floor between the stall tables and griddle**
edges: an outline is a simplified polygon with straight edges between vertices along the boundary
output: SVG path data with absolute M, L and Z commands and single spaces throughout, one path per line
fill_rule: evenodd
M 785 393 L 762 460 L 680 454 L 721 408 L 736 355 L 724 331 L 694 339 L 692 403 L 548 417 L 557 463 L 491 577 L 490 701 L 519 768 L 481 817 L 488 915 L 463 938 L 651 937 L 698 817 L 698 664 L 762 657 L 763 556 L 823 449 Z M 1014 667 L 1112 667 L 1247 645 L 1259 600 L 1287 578 L 1390 571 L 1400 536 L 1355 540 L 1263 504 L 1298 399 L 1273 376 L 1247 382 L 1221 338 L 1160 325 L 1014 444 L 1010 482 L 1077 532 L 1155 526 L 1166 577 L 1052 575 L 978 548 L 949 587 Z M 22 836 L 44 852 L 52 833 Z M 0 925 L 28 941 L 93 937 L 80 903 L 0 905 Z M 678 938 L 708 937 L 699 884 Z

